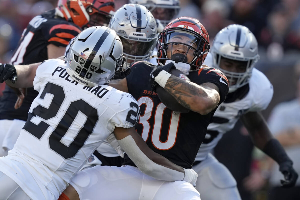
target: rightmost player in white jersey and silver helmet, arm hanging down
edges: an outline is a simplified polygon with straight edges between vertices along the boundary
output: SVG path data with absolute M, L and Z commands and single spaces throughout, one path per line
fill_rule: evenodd
M 294 186 L 298 175 L 292 161 L 271 135 L 260 113 L 270 103 L 273 87 L 268 78 L 254 68 L 259 59 L 255 36 L 245 26 L 229 25 L 214 38 L 211 54 L 205 64 L 220 69 L 226 75 L 229 94 L 214 113 L 213 123 L 207 128 L 193 166 L 198 173 L 196 189 L 201 199 L 241 199 L 229 170 L 209 153 L 238 119 L 247 128 L 254 145 L 280 165 L 285 179 L 281 181 L 283 187 Z

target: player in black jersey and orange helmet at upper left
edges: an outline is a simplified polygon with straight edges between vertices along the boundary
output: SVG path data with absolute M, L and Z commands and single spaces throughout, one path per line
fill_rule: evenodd
M 22 37 L 10 64 L 31 64 L 50 58 L 64 55 L 65 48 L 70 39 L 75 37 L 82 29 L 92 25 L 107 25 L 110 20 L 110 11 L 114 10 L 113 0 L 60 0 L 58 6 L 35 16 L 23 31 Z M 24 99 L 18 99 L 15 92 L 8 86 L 3 91 L 0 100 L 0 156 L 7 155 L 13 148 L 19 131 L 27 120 L 29 107 L 37 96 L 33 88 L 27 90 Z M 23 96 L 21 96 L 23 97 Z

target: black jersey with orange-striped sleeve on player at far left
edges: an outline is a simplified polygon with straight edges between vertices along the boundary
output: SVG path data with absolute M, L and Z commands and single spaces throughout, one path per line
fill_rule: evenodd
M 24 29 L 10 64 L 32 64 L 48 59 L 47 45 L 66 47 L 81 28 L 63 18 L 55 18 L 55 10 L 35 16 Z M 27 120 L 32 101 L 38 95 L 33 88 L 27 89 L 22 106 L 15 110 L 16 94 L 8 86 L 0 100 L 0 119 Z

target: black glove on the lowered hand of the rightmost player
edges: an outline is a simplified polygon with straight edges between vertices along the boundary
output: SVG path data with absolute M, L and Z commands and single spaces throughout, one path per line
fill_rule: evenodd
M 280 180 L 281 187 L 294 187 L 298 178 L 298 174 L 293 168 L 292 161 L 280 163 L 279 171 L 284 175 L 285 180 Z

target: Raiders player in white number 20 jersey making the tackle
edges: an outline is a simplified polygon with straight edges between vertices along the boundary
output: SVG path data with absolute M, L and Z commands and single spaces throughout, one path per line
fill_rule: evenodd
M 34 86 L 39 92 L 14 148 L 0 158 L 1 200 L 58 199 L 101 142 L 114 136 L 149 176 L 196 181 L 193 170 L 151 151 L 133 127 L 140 115 L 137 101 L 106 85 L 124 61 L 115 31 L 105 26 L 85 29 L 65 60 L 50 59 L 34 70 L 0 65 L 7 84 Z M 10 80 L 16 74 L 14 85 Z

